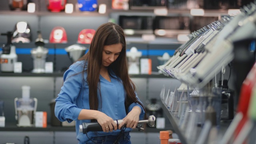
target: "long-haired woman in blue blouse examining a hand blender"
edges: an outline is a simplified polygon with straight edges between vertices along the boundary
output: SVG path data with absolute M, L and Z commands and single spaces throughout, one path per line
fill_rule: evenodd
M 126 42 L 120 26 L 102 24 L 88 53 L 70 66 L 63 79 L 55 115 L 60 121 L 76 121 L 79 144 L 131 143 L 129 132 L 145 110 L 128 75 Z M 123 122 L 117 127 L 114 120 L 120 119 Z M 92 121 L 97 121 L 103 132 L 79 132 L 80 124 Z

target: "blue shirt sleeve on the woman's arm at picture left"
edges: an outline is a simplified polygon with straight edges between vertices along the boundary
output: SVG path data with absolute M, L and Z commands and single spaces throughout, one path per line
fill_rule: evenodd
M 78 115 L 81 112 L 81 108 L 78 108 L 75 104 L 82 87 L 82 68 L 79 64 L 73 64 L 64 73 L 63 86 L 60 93 L 56 98 L 55 116 L 60 121 L 72 122 L 78 120 Z

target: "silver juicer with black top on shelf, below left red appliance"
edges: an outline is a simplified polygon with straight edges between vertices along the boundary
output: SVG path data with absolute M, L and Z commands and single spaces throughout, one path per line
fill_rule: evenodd
M 45 72 L 45 61 L 48 54 L 48 49 L 44 48 L 44 40 L 42 39 L 41 32 L 38 32 L 38 38 L 36 39 L 35 45 L 37 48 L 33 48 L 30 52 L 33 58 L 33 73 L 44 73 Z

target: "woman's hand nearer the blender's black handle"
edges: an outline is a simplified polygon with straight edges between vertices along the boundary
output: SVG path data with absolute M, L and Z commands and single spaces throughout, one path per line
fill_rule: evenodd
M 100 126 L 102 126 L 103 132 L 112 132 L 113 130 L 117 130 L 117 124 L 114 120 L 103 112 L 99 112 L 96 120 Z

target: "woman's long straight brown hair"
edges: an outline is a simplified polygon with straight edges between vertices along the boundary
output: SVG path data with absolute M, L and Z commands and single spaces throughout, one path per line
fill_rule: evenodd
M 112 44 L 122 44 L 122 51 L 118 58 L 108 66 L 108 70 L 112 70 L 116 76 L 118 76 L 123 83 L 126 90 L 125 107 L 126 113 L 128 113 L 128 107 L 133 102 L 136 102 L 142 106 L 143 104 L 136 98 L 136 87 L 128 75 L 128 64 L 126 58 L 126 41 L 122 28 L 112 22 L 102 24 L 95 32 L 90 49 L 87 54 L 78 59 L 85 60 L 87 64 L 87 84 L 89 86 L 89 104 L 91 110 L 98 110 L 98 98 L 97 90 L 99 89 L 100 78 L 100 66 L 102 64 L 102 51 L 104 46 Z M 111 75 L 110 75 L 111 76 Z M 100 92 L 100 90 L 99 90 Z M 101 94 L 100 94 L 101 100 Z M 102 102 L 100 102 L 102 103 Z M 100 106 L 101 107 L 101 106 Z M 145 110 L 145 109 L 144 109 Z

